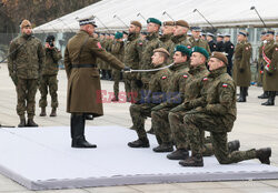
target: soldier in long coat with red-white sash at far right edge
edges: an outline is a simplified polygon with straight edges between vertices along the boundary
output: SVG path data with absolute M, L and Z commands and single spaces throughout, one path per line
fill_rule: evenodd
M 278 43 L 275 42 L 274 30 L 267 30 L 267 43 L 262 47 L 264 78 L 262 88 L 268 92 L 267 102 L 261 105 L 275 105 L 275 96 L 278 91 Z

